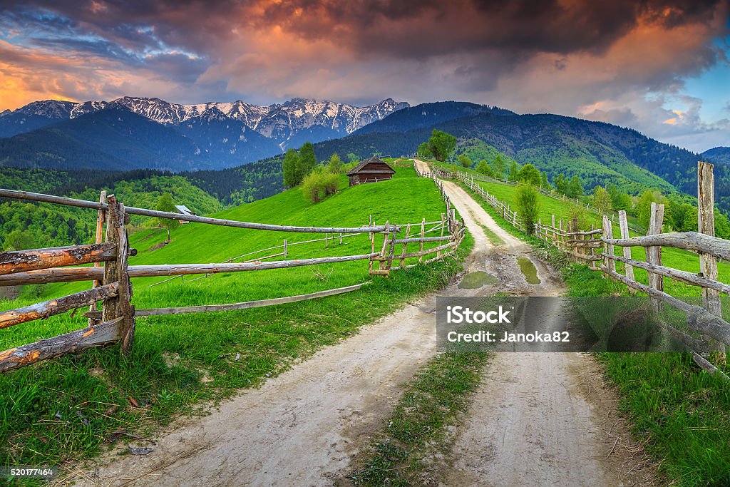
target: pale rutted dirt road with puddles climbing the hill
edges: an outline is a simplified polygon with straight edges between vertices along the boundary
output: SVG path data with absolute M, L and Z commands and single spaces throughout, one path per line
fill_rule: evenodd
M 77 478 L 77 485 L 332 485 L 347 472 L 358 445 L 390 413 L 401 384 L 434 356 L 437 294 L 562 291 L 558 277 L 535 259 L 542 282 L 526 283 L 516 257 L 529 256 L 529 247 L 500 229 L 457 185 L 447 182 L 445 188 L 475 238 L 466 270 L 486 270 L 501 283 L 479 289 L 453 285 L 426 296 L 207 417 L 183 420 L 157 439 L 152 453 L 100 461 Z M 481 225 L 498 234 L 504 245 L 494 248 Z M 564 481 L 568 474 L 560 471 L 580 466 L 583 480 L 596 479 L 592 485 L 615 485 L 596 459 L 605 455 L 597 427 L 591 426 L 596 413 L 572 382 L 573 369 L 583 360 L 577 354 L 515 353 L 493 360 L 487 372 L 491 378 L 478 391 L 469 423 L 458 437 L 452 482 L 540 485 L 544 479 Z M 535 418 L 540 421 L 526 422 Z M 523 469 L 526 464 L 533 467 Z

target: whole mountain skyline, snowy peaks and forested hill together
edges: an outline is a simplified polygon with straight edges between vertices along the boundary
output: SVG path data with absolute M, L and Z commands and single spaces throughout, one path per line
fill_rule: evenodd
M 586 191 L 614 183 L 634 194 L 654 188 L 695 195 L 696 161 L 706 159 L 716 164 L 717 202 L 730 210 L 728 147 L 695 154 L 610 123 L 519 115 L 461 101 L 415 107 L 392 99 L 368 107 L 307 99 L 266 107 L 242 101 L 186 105 L 131 97 L 111 102 L 37 101 L 0 114 L 0 166 L 190 174 L 204 170 L 207 180 L 220 182 L 223 176 L 215 171 L 225 169 L 231 177 L 250 175 L 227 168 L 280 156 L 287 147 L 307 140 L 318 142 L 315 153 L 320 160 L 335 152 L 343 157 L 399 156 L 415 152 L 434 129 L 458 137 L 454 158 L 464 153 L 476 163 L 502 153 L 505 160 L 534 164 L 550 179 L 560 173 L 577 175 Z M 261 170 L 255 169 L 255 174 L 262 175 Z M 207 191 L 218 193 L 213 186 Z

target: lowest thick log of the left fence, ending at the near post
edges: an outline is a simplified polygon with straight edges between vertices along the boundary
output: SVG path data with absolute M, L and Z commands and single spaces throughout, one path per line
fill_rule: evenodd
M 97 288 L 101 289 L 101 288 Z M 55 358 L 67 353 L 102 345 L 110 345 L 119 339 L 119 323 L 122 318 L 105 321 L 85 329 L 47 338 L 18 348 L 0 352 L 0 373 L 8 372 L 36 362 Z

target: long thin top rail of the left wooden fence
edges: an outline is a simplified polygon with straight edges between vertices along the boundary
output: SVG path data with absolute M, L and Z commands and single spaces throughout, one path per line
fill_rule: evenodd
M 63 196 L 51 196 L 42 193 L 30 193 L 28 191 L 12 191 L 9 189 L 0 189 L 0 198 L 24 199 L 34 202 L 47 202 L 56 204 L 66 204 L 73 207 L 91 208 L 93 210 L 108 210 L 109 204 L 99 202 L 87 202 L 82 199 L 65 198 Z M 208 223 L 210 225 L 231 226 L 239 229 L 255 229 L 269 231 L 291 231 L 300 233 L 355 233 L 357 231 L 374 231 L 377 233 L 390 233 L 392 227 L 376 226 L 372 228 L 363 227 L 322 227 L 322 226 L 285 226 L 285 225 L 269 225 L 268 223 L 251 223 L 245 221 L 223 220 L 221 218 L 208 218 L 197 215 L 183 215 L 182 213 L 161 212 L 157 210 L 147 210 L 145 208 L 126 207 L 125 211 L 130 215 L 142 215 L 153 218 L 167 218 L 177 221 L 191 221 L 195 223 Z M 396 226 L 397 229 L 397 226 Z M 399 230 L 399 229 L 398 229 Z

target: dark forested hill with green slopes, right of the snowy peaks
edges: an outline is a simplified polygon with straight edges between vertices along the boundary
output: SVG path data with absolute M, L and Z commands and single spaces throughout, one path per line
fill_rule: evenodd
M 434 119 L 439 121 L 429 124 Z M 464 143 L 468 140 L 483 142 L 520 164 L 534 164 L 551 179 L 558 173 L 577 175 L 589 190 L 615 183 L 629 193 L 657 188 L 696 196 L 696 164 L 701 157 L 689 150 L 610 123 L 550 114 L 517 115 L 459 102 L 400 110 L 349 137 L 320 142 L 315 151 L 320 158 L 333 152 L 398 156 L 415 152 L 433 129 L 456 135 L 458 150 L 471 150 Z M 717 153 L 712 155 L 718 158 Z M 730 165 L 716 168 L 715 180 L 718 204 L 730 210 Z

